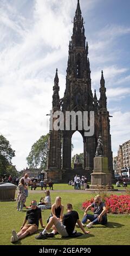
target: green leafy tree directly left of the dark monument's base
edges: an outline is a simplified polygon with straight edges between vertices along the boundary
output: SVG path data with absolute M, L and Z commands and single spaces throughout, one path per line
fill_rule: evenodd
M 29 168 L 40 167 L 41 170 L 46 169 L 48 137 L 49 133 L 41 136 L 40 139 L 32 145 L 31 151 L 27 157 Z

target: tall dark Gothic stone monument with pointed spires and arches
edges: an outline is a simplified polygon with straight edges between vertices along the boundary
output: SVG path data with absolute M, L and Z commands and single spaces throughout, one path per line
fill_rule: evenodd
M 101 72 L 100 80 L 100 99 L 97 99 L 96 91 L 93 95 L 91 88 L 91 71 L 88 58 L 88 42 L 86 42 L 85 28 L 83 26 L 83 17 L 81 15 L 80 3 L 77 1 L 77 8 L 74 17 L 74 27 L 72 39 L 69 42 L 68 65 L 66 75 L 66 90 L 64 96 L 60 99 L 59 96 L 59 77 L 56 69 L 53 87 L 53 108 L 52 113 L 62 111 L 64 113 L 64 124 L 66 121 L 65 115 L 69 111 L 90 111 L 94 112 L 94 135 L 85 136 L 85 130 L 79 130 L 76 125 L 76 130 L 79 131 L 83 138 L 84 148 L 84 172 L 90 177 L 90 173 L 94 167 L 94 157 L 99 135 L 103 140 L 103 155 L 108 157 L 108 169 L 114 178 L 113 172 L 113 156 L 111 148 L 110 120 L 107 110 L 107 97 L 105 79 L 103 71 Z M 55 118 L 53 118 L 53 123 Z M 77 123 L 76 123 L 77 124 Z M 70 175 L 74 175 L 74 170 L 71 168 L 72 159 L 72 136 L 74 130 L 52 130 L 49 136 L 47 173 L 48 178 L 56 181 L 64 181 L 69 179 Z M 62 143 L 61 143 L 62 142 Z M 61 157 L 62 144 L 62 157 Z

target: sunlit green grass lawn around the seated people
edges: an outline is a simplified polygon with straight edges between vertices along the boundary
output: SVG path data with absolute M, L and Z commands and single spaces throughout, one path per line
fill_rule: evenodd
M 60 187 L 71 187 L 68 185 L 57 184 L 55 190 L 60 190 Z M 73 187 L 72 187 L 73 189 Z M 26 205 L 29 205 L 32 199 L 36 199 L 37 202 L 43 196 L 41 193 L 30 193 L 27 199 Z M 79 212 L 80 220 L 83 216 L 81 209 L 82 202 L 86 199 L 92 198 L 92 193 L 75 193 L 74 192 L 56 192 L 51 193 L 51 201 L 54 203 L 55 197 L 61 196 L 62 204 L 65 206 L 67 203 L 72 203 L 74 210 Z M 19 231 L 23 220 L 25 218 L 26 210 L 23 212 L 16 211 L 17 202 L 0 202 L 0 245 L 11 245 L 10 237 L 11 230 L 15 229 Z M 25 208 L 24 208 L 25 209 Z M 66 209 L 66 208 L 65 208 Z M 64 210 L 66 212 L 66 210 Z M 46 224 L 46 220 L 50 215 L 50 210 L 42 211 L 43 223 Z M 87 228 L 85 228 L 88 230 Z M 41 231 L 39 227 L 39 231 Z M 81 231 L 79 228 L 76 230 Z M 25 239 L 16 242 L 16 245 L 129 245 L 129 230 L 130 230 L 130 218 L 129 215 L 112 215 L 108 214 L 107 227 L 102 225 L 94 225 L 90 230 L 89 235 L 83 235 L 72 238 L 61 238 L 60 235 L 56 235 L 52 239 L 36 240 L 35 234 L 25 237 Z

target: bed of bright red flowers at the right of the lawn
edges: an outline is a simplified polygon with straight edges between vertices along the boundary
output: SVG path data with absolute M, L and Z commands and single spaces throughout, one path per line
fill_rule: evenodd
M 82 208 L 86 209 L 88 205 L 94 202 L 94 198 L 91 200 L 86 200 L 83 202 Z M 130 213 L 130 195 L 124 196 L 116 196 L 111 195 L 109 197 L 105 197 L 105 204 L 107 208 L 107 212 L 112 212 L 113 214 L 129 214 Z M 92 208 L 94 210 L 94 208 Z

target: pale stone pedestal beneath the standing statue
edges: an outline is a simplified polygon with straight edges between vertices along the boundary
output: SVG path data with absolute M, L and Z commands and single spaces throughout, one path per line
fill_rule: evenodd
M 94 157 L 94 170 L 91 173 L 91 189 L 113 188 L 111 173 L 108 171 L 108 158 L 103 156 Z

